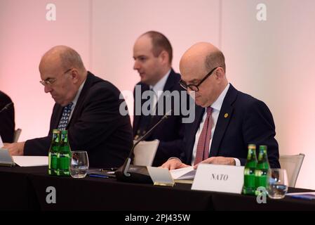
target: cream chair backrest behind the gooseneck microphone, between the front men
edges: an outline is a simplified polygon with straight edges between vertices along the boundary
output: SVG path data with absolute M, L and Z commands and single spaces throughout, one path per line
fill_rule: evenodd
M 133 165 L 139 166 L 152 166 L 152 162 L 155 157 L 156 150 L 159 146 L 159 140 L 154 141 L 140 141 L 133 153 L 135 153 L 135 158 L 133 158 Z

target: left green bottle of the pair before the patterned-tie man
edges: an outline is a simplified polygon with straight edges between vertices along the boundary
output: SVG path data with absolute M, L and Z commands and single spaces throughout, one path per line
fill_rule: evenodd
M 57 175 L 57 157 L 60 148 L 60 130 L 53 129 L 53 139 L 48 151 L 48 174 Z

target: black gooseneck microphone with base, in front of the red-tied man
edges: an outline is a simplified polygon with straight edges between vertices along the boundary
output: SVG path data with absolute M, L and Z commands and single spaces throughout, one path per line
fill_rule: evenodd
M 159 122 L 157 122 L 154 127 L 149 129 L 145 135 L 143 135 L 138 141 L 136 141 L 133 144 L 133 148 L 131 148 L 130 153 L 128 155 L 128 158 L 126 158 L 125 163 L 123 163 L 123 166 L 119 167 L 119 169 L 116 170 L 115 175 L 116 179 L 118 181 L 124 181 L 124 182 L 132 182 L 132 183 L 152 183 L 151 176 L 149 175 L 149 172 L 147 171 L 147 167 L 145 166 L 138 166 L 138 165 L 130 165 L 131 158 L 133 156 L 133 150 L 135 149 L 135 146 L 140 143 L 140 141 L 144 140 L 149 134 L 152 133 L 152 131 L 165 119 L 168 118 L 172 110 L 169 110 L 168 113 L 166 113 Z

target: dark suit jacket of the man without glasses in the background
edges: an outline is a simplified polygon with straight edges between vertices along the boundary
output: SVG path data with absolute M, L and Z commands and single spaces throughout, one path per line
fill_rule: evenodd
M 170 71 L 170 75 L 168 76 L 168 79 L 166 80 L 166 84 L 164 86 L 163 91 L 185 91 L 182 89 L 180 84 L 178 82 L 180 81 L 180 75 L 175 73 L 174 70 Z M 138 83 L 137 85 L 141 86 L 141 95 L 144 91 L 149 90 L 149 86 L 147 84 Z M 134 92 L 135 97 L 135 92 Z M 162 97 L 162 96 L 161 96 Z M 142 99 L 141 102 L 141 108 L 142 104 L 145 103 L 147 99 Z M 159 102 L 163 101 L 162 98 L 159 98 Z M 166 98 L 164 98 L 164 114 L 166 112 Z M 134 104 L 135 106 L 135 104 Z M 174 109 L 174 104 L 172 103 L 171 106 L 172 109 Z M 158 108 L 156 107 L 156 112 L 158 111 Z M 174 110 L 172 111 L 172 115 L 168 117 L 167 120 L 163 121 L 161 124 L 159 124 L 154 131 L 152 131 L 152 134 L 150 134 L 145 141 L 152 141 L 154 139 L 159 139 L 159 148 L 156 151 L 156 156 L 154 158 L 153 166 L 160 166 L 164 162 L 168 160 L 170 157 L 180 157 L 180 153 L 182 152 L 182 141 L 184 137 L 184 125 L 182 124 L 182 115 L 173 115 Z M 134 107 L 134 115 L 135 115 L 135 107 Z M 141 120 L 145 115 L 135 115 L 133 120 L 133 136 L 136 136 L 138 134 L 138 130 L 140 128 Z M 151 117 L 149 115 L 149 117 Z M 151 118 L 151 122 L 149 123 L 149 126 L 147 127 L 147 131 L 152 128 L 159 120 L 161 120 L 161 117 L 163 115 L 155 115 Z M 142 134 L 140 134 L 142 136 Z

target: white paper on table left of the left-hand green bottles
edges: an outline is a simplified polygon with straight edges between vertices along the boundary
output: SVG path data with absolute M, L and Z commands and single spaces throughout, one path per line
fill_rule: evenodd
M 39 167 L 48 165 L 48 156 L 13 155 L 15 164 L 20 167 Z

